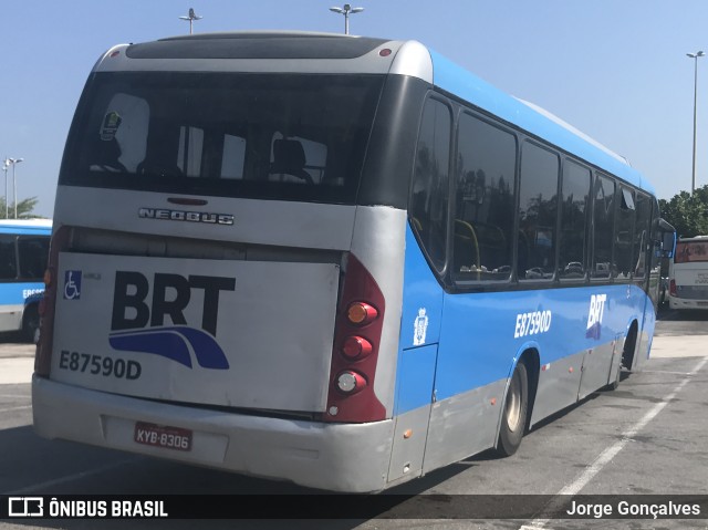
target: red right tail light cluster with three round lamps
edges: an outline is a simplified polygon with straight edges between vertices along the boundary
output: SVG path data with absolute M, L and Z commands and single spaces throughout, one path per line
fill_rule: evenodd
M 386 407 L 374 392 L 384 309 L 376 281 L 350 253 L 334 325 L 325 422 L 386 418 Z

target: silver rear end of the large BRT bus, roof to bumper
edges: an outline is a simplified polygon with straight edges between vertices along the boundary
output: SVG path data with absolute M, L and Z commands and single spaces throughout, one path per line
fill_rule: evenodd
M 106 52 L 59 178 L 37 432 L 382 489 L 426 61 L 292 33 Z

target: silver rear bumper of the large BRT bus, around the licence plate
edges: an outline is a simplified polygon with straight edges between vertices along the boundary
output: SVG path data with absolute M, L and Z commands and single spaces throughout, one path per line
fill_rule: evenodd
M 325 424 L 190 408 L 32 377 L 35 432 L 332 491 L 385 488 L 394 422 Z M 135 441 L 136 422 L 192 432 L 191 450 Z

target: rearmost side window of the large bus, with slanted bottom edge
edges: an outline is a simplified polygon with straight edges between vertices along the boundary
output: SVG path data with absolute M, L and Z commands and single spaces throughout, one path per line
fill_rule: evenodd
M 451 116 L 447 105 L 428 100 L 416 148 L 409 216 L 412 227 L 438 272 L 445 269 Z

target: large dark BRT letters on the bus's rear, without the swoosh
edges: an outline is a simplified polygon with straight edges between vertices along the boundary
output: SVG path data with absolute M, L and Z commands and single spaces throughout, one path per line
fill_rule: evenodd
M 167 290 L 177 294 L 168 300 Z M 204 290 L 201 329 L 217 334 L 217 316 L 220 291 L 236 290 L 235 278 L 156 273 L 153 279 L 153 301 L 145 302 L 149 292 L 147 277 L 135 271 L 116 271 L 113 292 L 113 316 L 111 331 L 134 330 L 136 328 L 160 326 L 169 315 L 175 325 L 186 325 L 184 310 L 191 299 L 191 290 Z M 133 310 L 133 318 L 126 316 L 126 310 Z

